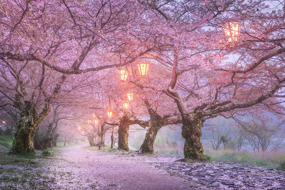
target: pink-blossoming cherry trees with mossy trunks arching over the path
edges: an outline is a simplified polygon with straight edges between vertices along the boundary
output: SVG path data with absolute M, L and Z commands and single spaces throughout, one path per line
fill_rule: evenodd
M 152 152 L 157 131 L 181 123 L 184 156 L 193 160 L 207 159 L 205 120 L 264 112 L 282 119 L 284 9 L 265 3 L 1 2 L 0 107 L 17 123 L 12 152 L 33 152 L 36 130 L 57 106 L 118 126 L 123 150 L 130 125 L 148 127 L 141 151 Z M 239 35 L 225 35 L 235 21 Z M 144 78 L 141 62 L 150 64 Z M 127 82 L 117 68 L 128 71 Z

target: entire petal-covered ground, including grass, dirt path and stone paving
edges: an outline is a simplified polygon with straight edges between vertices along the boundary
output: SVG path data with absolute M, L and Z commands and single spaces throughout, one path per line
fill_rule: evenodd
M 3 150 L 2 150 L 3 151 Z M 1 151 L 0 151 L 1 153 Z M 285 189 L 285 171 L 230 163 L 185 163 L 85 146 L 54 156 L 0 156 L 0 189 Z

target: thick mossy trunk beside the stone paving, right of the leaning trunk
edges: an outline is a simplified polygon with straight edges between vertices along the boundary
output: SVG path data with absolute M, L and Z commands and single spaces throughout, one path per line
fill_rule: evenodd
M 185 138 L 185 159 L 191 159 L 194 161 L 208 161 L 209 158 L 204 155 L 203 146 L 201 143 L 201 128 L 203 127 L 204 121 L 196 117 L 186 117 L 186 119 L 182 119 L 182 121 L 183 125 L 181 134 Z

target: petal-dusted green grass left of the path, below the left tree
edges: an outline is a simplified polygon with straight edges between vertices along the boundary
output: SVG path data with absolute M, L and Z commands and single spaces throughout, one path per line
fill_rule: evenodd
M 12 139 L 0 136 L 0 142 L 12 147 Z M 49 157 L 36 154 L 10 154 L 9 149 L 0 144 L 0 189 L 50 189 L 48 184 L 55 178 L 42 168 Z

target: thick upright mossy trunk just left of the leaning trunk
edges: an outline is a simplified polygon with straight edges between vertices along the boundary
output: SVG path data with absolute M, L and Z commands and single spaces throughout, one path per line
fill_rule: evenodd
M 118 149 L 129 151 L 129 125 L 121 122 L 118 129 Z

